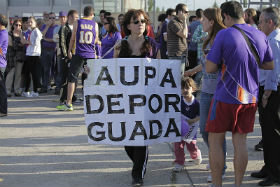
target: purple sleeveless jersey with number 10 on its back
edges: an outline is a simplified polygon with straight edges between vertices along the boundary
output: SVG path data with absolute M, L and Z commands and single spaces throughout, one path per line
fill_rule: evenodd
M 95 52 L 95 21 L 82 18 L 78 20 L 76 34 L 76 55 L 82 58 L 96 58 Z

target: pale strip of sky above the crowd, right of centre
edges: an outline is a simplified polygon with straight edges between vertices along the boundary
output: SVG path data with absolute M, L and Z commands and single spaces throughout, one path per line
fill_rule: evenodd
M 196 10 L 198 8 L 206 9 L 212 7 L 215 0 L 156 0 L 156 7 L 160 10 L 164 8 L 175 8 L 178 3 L 184 3 L 188 5 L 189 10 Z M 218 6 L 220 6 L 225 0 L 216 0 Z

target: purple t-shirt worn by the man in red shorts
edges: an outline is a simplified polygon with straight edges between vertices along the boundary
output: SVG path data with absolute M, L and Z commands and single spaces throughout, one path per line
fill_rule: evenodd
M 247 24 L 236 24 L 252 41 L 261 63 L 273 60 L 266 36 Z M 221 30 L 207 55 L 207 60 L 220 65 L 215 100 L 229 104 L 256 103 L 258 98 L 258 64 L 246 40 L 233 27 Z

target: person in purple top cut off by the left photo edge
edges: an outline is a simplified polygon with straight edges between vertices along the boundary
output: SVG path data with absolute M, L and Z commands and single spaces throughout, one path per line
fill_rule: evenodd
M 7 116 L 7 93 L 4 80 L 4 72 L 7 66 L 8 32 L 6 27 L 8 20 L 0 14 L 0 117 Z

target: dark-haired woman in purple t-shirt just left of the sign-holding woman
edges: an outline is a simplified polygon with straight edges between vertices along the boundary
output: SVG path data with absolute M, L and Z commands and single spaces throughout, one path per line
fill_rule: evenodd
M 112 49 L 115 46 L 116 42 L 122 39 L 122 36 L 116 26 L 115 18 L 104 18 L 103 25 L 107 31 L 107 34 L 101 40 L 102 56 L 104 59 L 113 58 L 114 50 Z

